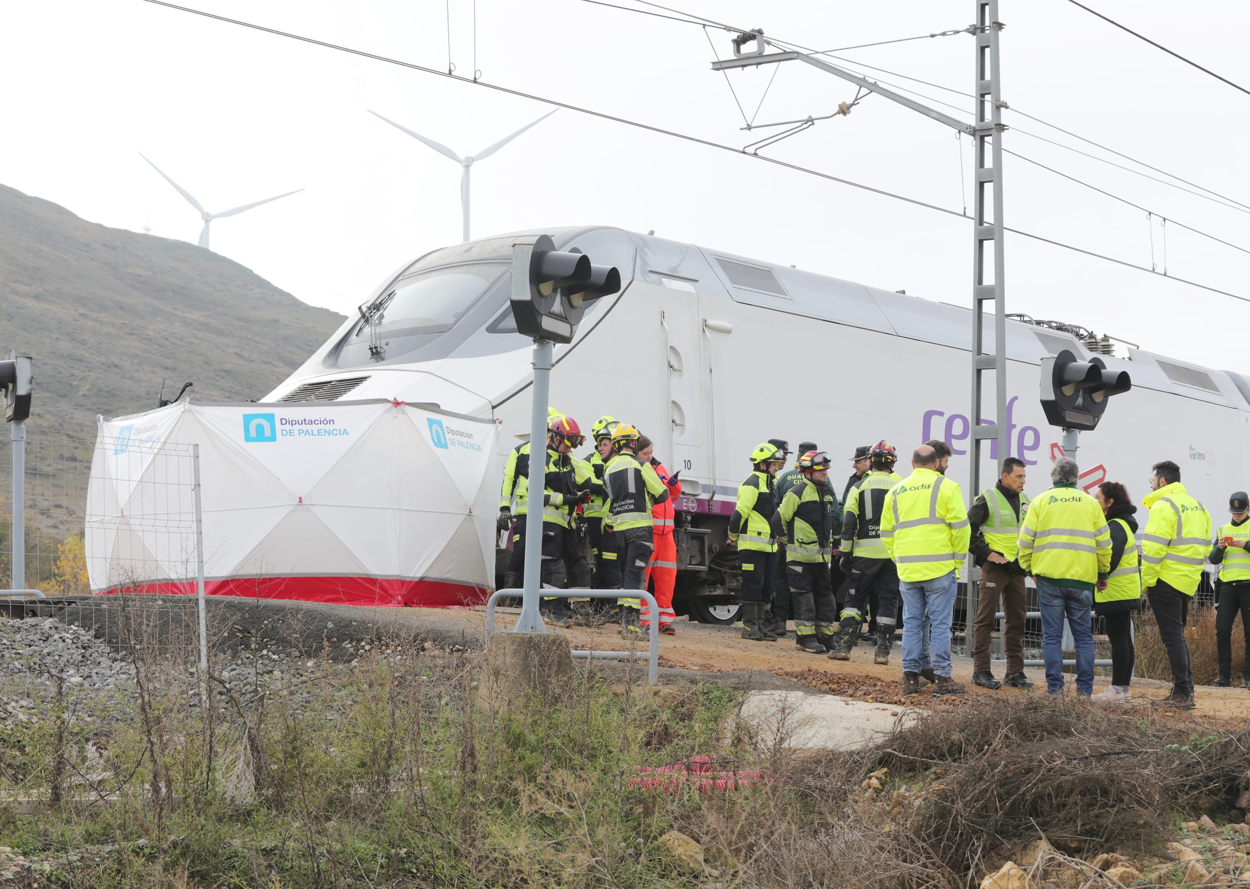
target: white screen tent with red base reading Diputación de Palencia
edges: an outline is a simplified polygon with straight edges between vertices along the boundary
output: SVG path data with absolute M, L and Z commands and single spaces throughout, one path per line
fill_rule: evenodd
M 465 605 L 494 586 L 496 424 L 402 401 L 192 404 L 100 420 L 94 593 Z

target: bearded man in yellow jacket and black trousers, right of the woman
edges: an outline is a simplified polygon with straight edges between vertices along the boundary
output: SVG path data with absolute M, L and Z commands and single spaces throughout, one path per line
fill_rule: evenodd
M 1141 585 L 1172 671 L 1171 693 L 1151 703 L 1192 710 L 1194 671 L 1185 643 L 1185 620 L 1211 545 L 1211 516 L 1185 490 L 1180 466 L 1171 460 L 1150 468 L 1150 493 L 1141 503 L 1150 509 L 1150 520 L 1141 534 Z

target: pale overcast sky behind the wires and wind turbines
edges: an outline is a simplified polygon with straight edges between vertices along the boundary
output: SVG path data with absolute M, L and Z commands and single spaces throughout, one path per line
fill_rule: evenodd
M 632 0 L 622 6 L 650 9 Z M 729 35 L 584 0 L 186 0 L 270 28 L 742 146 L 725 76 Z M 666 3 L 665 5 L 670 5 Z M 971 0 L 671 5 L 819 49 L 966 26 Z M 1250 4 L 1089 0 L 1099 11 L 1250 85 Z M 448 9 L 450 6 L 450 23 Z M 474 14 L 476 13 L 476 29 Z M 460 168 L 368 114 L 461 154 L 549 106 L 295 43 L 142 0 L 0 6 L 5 136 L 0 181 L 85 219 L 195 243 L 201 223 L 136 154 L 210 211 L 305 191 L 212 224 L 212 248 L 314 305 L 351 311 L 412 256 L 460 240 Z M 1004 0 L 1004 98 L 1035 115 L 1250 205 L 1250 95 L 1065 0 Z M 705 36 L 706 35 L 706 36 Z M 714 46 L 709 46 L 711 38 Z M 971 91 L 966 34 L 848 50 L 846 58 Z M 771 68 L 730 73 L 746 116 Z M 971 100 L 881 80 L 970 109 Z M 799 63 L 780 68 L 756 123 L 829 114 L 855 90 Z M 944 109 L 958 114 L 951 109 Z M 965 115 L 966 116 L 966 115 Z M 1005 121 L 1108 156 L 1006 113 Z M 1048 145 L 1005 146 L 1250 249 L 1250 215 Z M 971 155 L 962 141 L 964 180 Z M 766 154 L 962 210 L 954 131 L 879 96 Z M 1151 265 L 1146 215 L 1009 158 L 1012 228 Z M 1140 169 L 1140 168 L 1138 168 Z M 1149 173 L 1149 171 L 1148 171 Z M 1156 174 L 1151 174 L 1156 175 Z M 606 224 L 794 264 L 932 300 L 970 303 L 970 223 L 728 151 L 561 110 L 474 168 L 472 234 Z M 1164 226 L 1154 220 L 1164 269 Z M 1009 236 L 1009 311 L 1081 324 L 1204 365 L 1250 371 L 1250 304 Z M 1250 256 L 1166 226 L 1170 275 L 1250 296 Z M 965 386 L 961 379 L 959 386 Z

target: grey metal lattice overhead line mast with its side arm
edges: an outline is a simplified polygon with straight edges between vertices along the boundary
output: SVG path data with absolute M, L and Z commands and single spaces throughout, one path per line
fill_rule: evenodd
M 1008 441 L 1008 363 L 1006 363 L 1006 300 L 1004 293 L 1004 226 L 1002 226 L 1002 96 L 1000 90 L 999 34 L 1002 23 L 999 21 L 999 0 L 975 0 L 976 16 L 966 30 L 975 40 L 974 109 L 975 123 L 971 125 L 942 111 L 929 108 L 914 99 L 881 86 L 881 84 L 851 74 L 836 65 L 814 58 L 808 53 L 785 50 L 766 53 L 768 48 L 784 49 L 766 40 L 760 29 L 738 34 L 734 43 L 734 58 L 712 63 L 712 70 L 724 71 L 731 68 L 750 68 L 782 61 L 801 61 L 835 78 L 841 78 L 858 88 L 875 93 L 882 99 L 898 103 L 918 114 L 931 118 L 940 124 L 968 134 L 972 138 L 972 468 L 971 495 L 981 490 L 981 455 L 986 441 L 995 443 L 994 455 L 1004 459 L 1010 453 Z M 755 44 L 754 51 L 742 51 L 742 46 Z M 992 304 L 992 318 L 986 316 L 986 304 Z M 992 351 L 988 346 L 986 323 L 992 324 Z M 994 375 L 994 420 L 984 419 L 982 405 L 986 396 L 985 374 Z M 976 585 L 971 583 L 969 571 L 968 614 L 976 613 Z

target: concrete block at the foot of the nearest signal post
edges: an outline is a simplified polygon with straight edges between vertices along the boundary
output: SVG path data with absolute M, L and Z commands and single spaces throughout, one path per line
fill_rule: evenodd
M 551 700 L 571 675 L 569 640 L 559 633 L 496 633 L 486 646 L 479 691 L 502 706 L 535 694 Z

